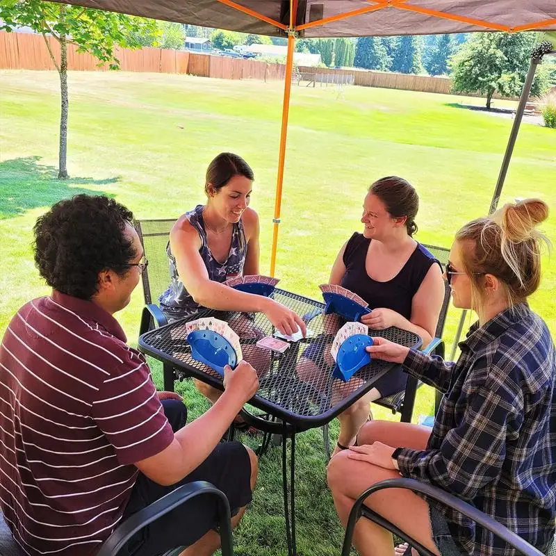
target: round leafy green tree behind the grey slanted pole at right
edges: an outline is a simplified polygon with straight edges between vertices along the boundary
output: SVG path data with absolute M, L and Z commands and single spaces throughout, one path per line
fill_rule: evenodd
M 535 33 L 477 33 L 450 59 L 455 92 L 482 92 L 486 108 L 496 91 L 518 96 L 523 89 L 537 41 Z M 546 67 L 540 67 L 531 94 L 541 95 L 549 86 Z

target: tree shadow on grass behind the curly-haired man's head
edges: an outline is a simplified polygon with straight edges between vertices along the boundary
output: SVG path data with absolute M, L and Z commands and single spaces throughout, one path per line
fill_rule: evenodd
M 102 195 L 102 191 L 86 186 L 104 186 L 119 179 L 70 177 L 61 180 L 57 168 L 39 161 L 40 156 L 27 156 L 0 162 L 0 220 L 15 218 L 32 208 L 51 206 L 79 193 Z

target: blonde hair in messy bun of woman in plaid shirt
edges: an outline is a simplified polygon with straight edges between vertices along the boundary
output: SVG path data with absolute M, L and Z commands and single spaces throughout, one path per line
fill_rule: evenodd
M 463 248 L 464 268 L 471 278 L 473 306 L 484 300 L 483 277 L 496 276 L 512 306 L 523 302 L 539 287 L 541 254 L 550 241 L 537 226 L 548 218 L 548 205 L 540 199 L 508 203 L 484 218 L 468 222 L 456 240 Z

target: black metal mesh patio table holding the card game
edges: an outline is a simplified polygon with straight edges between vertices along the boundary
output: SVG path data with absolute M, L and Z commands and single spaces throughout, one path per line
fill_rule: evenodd
M 361 368 L 349 382 L 341 382 L 332 377 L 329 357 L 323 354 L 325 345 L 334 339 L 334 330 L 325 322 L 324 304 L 302 297 L 295 293 L 276 289 L 272 297 L 288 306 L 301 316 L 313 336 L 291 343 L 283 354 L 268 352 L 256 347 L 261 336 L 270 336 L 274 327 L 263 313 L 235 313 L 207 310 L 194 317 L 173 322 L 170 325 L 154 329 L 140 336 L 139 349 L 163 363 L 170 363 L 174 368 L 183 370 L 184 375 L 214 386 L 220 390 L 222 376 L 215 370 L 195 361 L 191 357 L 186 340 L 186 322 L 195 318 L 213 316 L 226 320 L 240 336 L 243 357 L 249 361 L 259 374 L 259 390 L 250 400 L 250 405 L 261 410 L 265 418 L 252 417 L 256 427 L 265 432 L 281 434 L 282 474 L 284 486 L 284 514 L 286 519 L 286 539 L 288 556 L 295 556 L 295 434 L 320 427 L 329 423 L 334 417 L 350 407 L 361 396 L 373 388 L 373 384 L 391 368 L 393 363 L 371 361 Z M 341 325 L 342 322 L 339 322 Z M 385 330 L 371 331 L 370 336 L 382 336 L 409 347 L 420 347 L 419 336 L 406 330 L 391 327 Z M 313 357 L 313 362 L 320 371 L 318 384 L 315 381 L 304 382 L 297 375 L 297 366 L 306 347 L 321 352 Z M 268 418 L 270 416 L 270 419 Z M 286 439 L 291 439 L 291 479 L 288 504 L 288 473 Z M 290 521 L 291 516 L 291 521 Z

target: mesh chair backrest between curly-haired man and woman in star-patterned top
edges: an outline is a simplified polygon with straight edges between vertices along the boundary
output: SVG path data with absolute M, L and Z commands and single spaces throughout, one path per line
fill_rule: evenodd
M 138 220 L 135 229 L 141 240 L 145 256 L 149 259 L 149 266 L 142 273 L 145 304 L 158 301 L 170 284 L 170 268 L 166 255 L 166 245 L 170 230 L 177 218 L 165 220 Z

